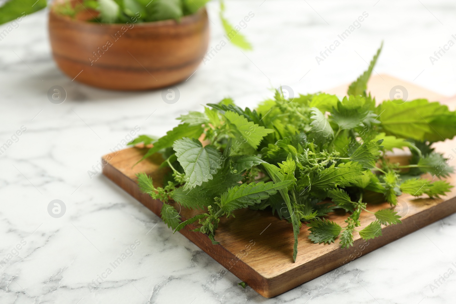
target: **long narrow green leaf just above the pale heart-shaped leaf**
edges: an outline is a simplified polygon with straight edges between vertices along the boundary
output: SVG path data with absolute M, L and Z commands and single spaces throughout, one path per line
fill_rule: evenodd
M 147 153 L 141 158 L 141 160 L 138 161 L 138 163 L 142 160 L 145 160 L 149 156 L 154 155 L 161 149 L 172 147 L 177 139 L 184 137 L 199 138 L 203 131 L 204 129 L 201 126 L 180 124 L 171 131 L 166 132 L 165 136 L 159 138 L 156 142 L 154 142 L 154 146 L 150 148 L 149 151 L 147 151 Z

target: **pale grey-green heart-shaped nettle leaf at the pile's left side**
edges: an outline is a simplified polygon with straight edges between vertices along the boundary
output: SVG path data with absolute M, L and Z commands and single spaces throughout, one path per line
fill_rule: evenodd
M 205 147 L 197 139 L 183 138 L 174 143 L 177 161 L 185 171 L 183 190 L 199 186 L 204 181 L 212 180 L 212 175 L 221 168 L 222 154 L 211 145 Z

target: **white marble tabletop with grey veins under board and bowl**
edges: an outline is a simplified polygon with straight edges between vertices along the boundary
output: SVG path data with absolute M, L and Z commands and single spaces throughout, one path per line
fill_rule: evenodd
M 231 96 L 254 106 L 271 96 L 268 88 L 307 93 L 349 82 L 382 40 L 376 72 L 454 95 L 456 46 L 434 64 L 429 57 L 455 40 L 456 4 L 398 2 L 228 1 L 233 23 L 254 13 L 242 30 L 254 51 L 223 47 L 177 86 L 174 104 L 163 102 L 161 91 L 110 92 L 72 82 L 52 61 L 47 12 L 27 16 L 0 41 L 0 145 L 26 129 L 0 155 L 0 303 L 454 303 L 456 274 L 438 287 L 435 280 L 456 270 L 456 215 L 265 299 L 240 288 L 233 274 L 220 275 L 220 264 L 172 235 L 97 168 L 130 130 L 162 135 L 176 116 L 201 104 Z M 223 35 L 217 9 L 209 5 L 211 46 Z M 363 12 L 361 26 L 318 64 L 315 57 Z M 62 104 L 47 98 L 54 85 L 67 91 Z M 55 199 L 66 206 L 60 218 L 48 213 Z

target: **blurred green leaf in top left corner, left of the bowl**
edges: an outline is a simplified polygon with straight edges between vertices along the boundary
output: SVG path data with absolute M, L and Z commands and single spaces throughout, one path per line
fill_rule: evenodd
M 0 7 L 0 24 L 25 17 L 46 7 L 46 0 L 10 0 Z

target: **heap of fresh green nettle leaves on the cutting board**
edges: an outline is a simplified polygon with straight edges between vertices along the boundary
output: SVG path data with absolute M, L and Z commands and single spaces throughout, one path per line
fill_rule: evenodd
M 291 223 L 294 260 L 302 222 L 315 243 L 339 237 L 341 247 L 349 247 L 355 231 L 365 240 L 381 236 L 382 225 L 401 222 L 394 211 L 401 193 L 438 197 L 451 189 L 444 180 L 420 175 L 453 171 L 430 146 L 456 135 L 456 113 L 425 99 L 376 107 L 366 84 L 380 49 L 342 100 L 326 93 L 288 100 L 276 91 L 274 99 L 250 110 L 227 98 L 207 104 L 203 113 L 182 115 L 181 124 L 158 140 L 141 135 L 130 144 L 153 144 L 144 158 L 159 152 L 166 159 L 162 166 L 171 170 L 164 188 L 138 175 L 140 188 L 164 202 L 161 218 L 169 227 L 179 231 L 198 221 L 195 231 L 214 244 L 221 217 L 241 208 L 270 209 Z M 389 162 L 385 152 L 393 148 L 408 148 L 410 164 Z M 370 212 L 363 194 L 376 194 L 392 207 L 375 212 L 376 220 L 359 230 L 360 214 Z M 171 201 L 202 213 L 181 222 Z M 336 209 L 348 213 L 344 227 L 324 217 Z

